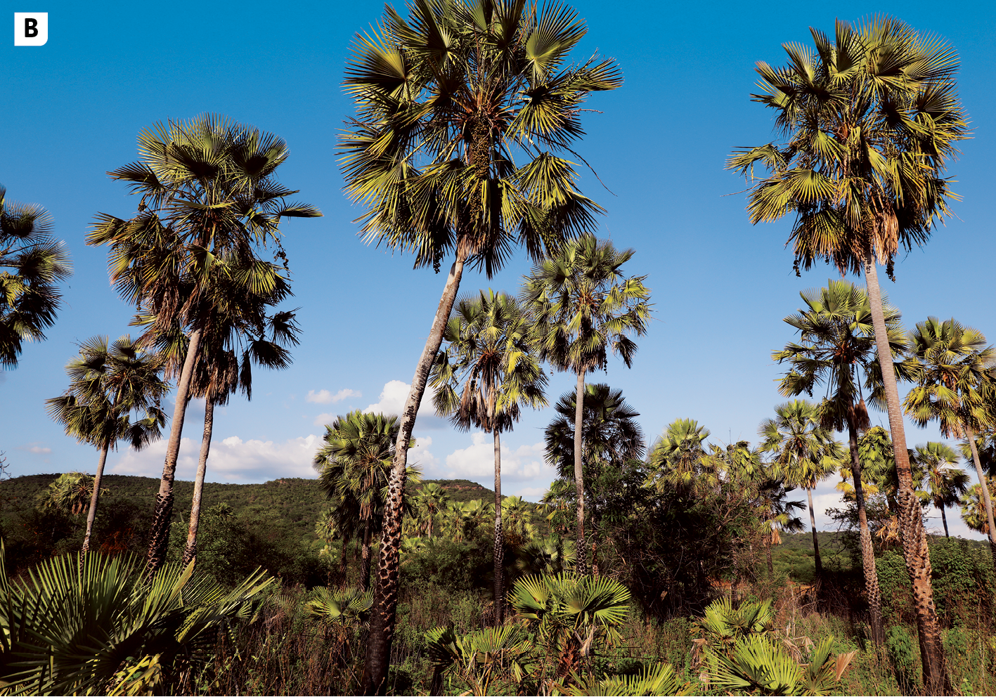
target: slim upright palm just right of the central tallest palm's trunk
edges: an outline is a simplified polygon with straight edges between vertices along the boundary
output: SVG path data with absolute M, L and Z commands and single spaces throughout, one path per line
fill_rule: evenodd
M 547 375 L 530 346 L 530 323 L 515 298 L 488 289 L 456 304 L 429 380 L 436 413 L 460 430 L 477 426 L 494 440 L 496 619 L 504 621 L 505 537 L 502 533 L 501 432 L 512 430 L 520 405 L 547 405 Z

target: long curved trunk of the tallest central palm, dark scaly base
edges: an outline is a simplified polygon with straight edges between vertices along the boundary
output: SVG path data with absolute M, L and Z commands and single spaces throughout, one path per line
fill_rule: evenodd
M 418 358 L 415 374 L 411 378 L 411 389 L 404 402 L 401 412 L 397 442 L 394 448 L 394 462 L 391 465 L 387 480 L 387 496 L 384 501 L 383 534 L 380 538 L 380 552 L 377 555 L 376 585 L 373 590 L 373 607 L 371 612 L 371 629 L 367 642 L 367 659 L 361 680 L 361 689 L 365 694 L 379 692 L 387 679 L 387 663 L 390 658 L 390 642 L 394 637 L 394 615 L 397 610 L 397 565 L 398 553 L 401 547 L 401 516 L 404 496 L 405 467 L 408 462 L 408 442 L 411 440 L 411 429 L 415 425 L 415 415 L 418 405 L 425 392 L 432 360 L 442 344 L 442 333 L 446 321 L 453 310 L 456 292 L 460 288 L 460 277 L 463 276 L 463 264 L 468 250 L 463 244 L 457 246 L 456 260 L 450 267 L 443 287 L 442 298 L 432 320 L 432 329 L 425 348 Z

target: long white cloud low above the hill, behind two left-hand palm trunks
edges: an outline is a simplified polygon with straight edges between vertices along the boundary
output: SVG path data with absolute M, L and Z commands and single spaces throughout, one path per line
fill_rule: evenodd
M 321 438 L 308 435 L 281 443 L 272 440 L 242 440 L 229 436 L 211 443 L 207 479 L 213 482 L 261 482 L 279 477 L 315 477 L 312 460 Z M 145 450 L 127 450 L 112 467 L 115 474 L 159 477 L 166 454 L 166 439 Z M 192 480 L 197 472 L 200 439 L 183 438 L 176 461 L 176 478 Z

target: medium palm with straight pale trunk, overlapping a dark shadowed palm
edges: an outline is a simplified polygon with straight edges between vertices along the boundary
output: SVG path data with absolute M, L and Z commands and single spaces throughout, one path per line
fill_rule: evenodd
M 583 235 L 533 266 L 520 297 L 534 323 L 534 343 L 540 357 L 558 370 L 577 375 L 574 417 L 574 481 L 578 489 L 578 573 L 588 573 L 585 553 L 585 474 L 582 424 L 585 375 L 608 369 L 609 349 L 632 365 L 637 337 L 646 332 L 650 317 L 643 285 L 645 276 L 624 278 L 622 265 L 631 249 L 617 250 L 611 240 Z

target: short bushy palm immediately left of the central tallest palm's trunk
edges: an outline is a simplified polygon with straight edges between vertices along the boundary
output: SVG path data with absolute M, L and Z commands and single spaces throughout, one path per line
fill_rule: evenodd
M 335 508 L 340 515 L 352 511 L 360 522 L 353 527 L 363 531 L 360 584 L 364 590 L 370 587 L 371 546 L 382 525 L 398 428 L 396 416 L 351 411 L 326 426 L 325 445 L 315 456 L 320 485 L 336 501 Z M 414 468 L 408 474 L 418 480 Z

